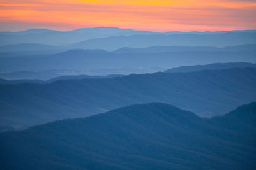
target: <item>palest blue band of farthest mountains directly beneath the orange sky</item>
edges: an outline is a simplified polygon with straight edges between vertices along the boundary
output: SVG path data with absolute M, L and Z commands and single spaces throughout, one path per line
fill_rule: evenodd
M 0 46 L 12 45 L 20 43 L 37 43 L 45 45 L 71 45 L 83 46 L 85 48 L 95 48 L 97 42 L 100 41 L 99 46 L 105 43 L 108 46 L 108 50 L 111 50 L 114 45 L 140 47 L 141 45 L 207 45 L 204 44 L 205 38 L 211 39 L 214 46 L 227 46 L 227 42 L 230 45 L 242 45 L 244 43 L 256 43 L 253 40 L 255 36 L 255 30 L 244 31 L 220 31 L 220 32 L 150 32 L 150 31 L 136 31 L 132 29 L 120 29 L 116 27 L 95 27 L 95 28 L 83 28 L 72 31 L 56 31 L 49 29 L 30 29 L 20 32 L 0 32 Z M 223 36 L 222 41 L 220 36 Z M 109 38 L 111 37 L 111 38 Z M 212 39 L 212 37 L 215 37 Z M 218 37 L 218 38 L 217 38 Z M 107 38 L 107 39 L 100 39 Z M 143 39 L 141 39 L 143 38 Z M 184 38 L 188 41 L 183 41 Z M 195 39 L 194 39 L 195 38 Z M 95 40 L 90 40 L 95 39 Z M 166 39 L 169 39 L 166 41 Z M 193 40 L 194 39 L 194 40 Z M 204 40 L 205 39 L 205 40 Z M 255 39 L 255 38 L 254 38 Z M 85 42 L 89 40 L 88 42 Z M 149 40 L 149 41 L 148 41 Z M 153 41 L 152 41 L 153 40 Z M 157 40 L 157 41 L 156 41 Z M 161 41 L 159 41 L 161 40 Z M 83 43 L 79 43 L 82 42 Z M 140 41 L 136 43 L 136 41 Z M 186 43 L 187 42 L 187 43 Z M 198 42 L 198 43 L 196 43 Z M 202 43 L 204 42 L 204 43 Z M 208 41 L 209 42 L 209 41 Z M 218 42 L 218 43 L 216 43 Z M 238 43 L 239 42 L 239 43 Z M 76 44 L 77 43 L 77 44 Z M 120 44 L 116 44 L 120 43 Z M 166 44 L 168 43 L 168 44 Z M 237 44 L 238 43 L 238 44 Z M 212 45 L 211 44 L 211 45 Z M 210 46 L 211 46 L 210 45 Z M 97 48 L 99 48 L 97 46 Z M 106 48 L 105 46 L 105 48 Z M 127 47 L 128 47 L 127 46 Z M 105 49 L 102 48 L 102 49 Z M 120 47 L 118 47 L 120 48 Z M 117 48 L 116 48 L 117 49 Z

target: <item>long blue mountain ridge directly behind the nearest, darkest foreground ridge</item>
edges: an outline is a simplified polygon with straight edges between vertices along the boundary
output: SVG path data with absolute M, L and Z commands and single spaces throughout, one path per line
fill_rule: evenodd
M 156 101 L 212 117 L 255 101 L 255 84 L 255 68 L 236 68 L 0 85 L 0 125 L 20 129 Z

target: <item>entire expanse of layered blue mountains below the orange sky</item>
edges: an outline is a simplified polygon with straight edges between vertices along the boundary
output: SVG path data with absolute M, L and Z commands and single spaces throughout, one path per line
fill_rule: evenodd
M 0 32 L 0 169 L 256 169 L 255 85 L 256 30 Z

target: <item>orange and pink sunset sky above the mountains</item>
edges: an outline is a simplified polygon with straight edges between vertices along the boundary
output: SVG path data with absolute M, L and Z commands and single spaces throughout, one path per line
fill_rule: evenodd
M 256 0 L 0 0 L 0 31 L 100 26 L 159 32 L 256 29 Z

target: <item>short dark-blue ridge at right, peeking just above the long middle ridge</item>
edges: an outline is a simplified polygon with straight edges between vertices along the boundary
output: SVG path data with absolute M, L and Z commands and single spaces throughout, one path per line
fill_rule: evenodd
M 191 72 L 191 71 L 202 71 L 205 69 L 230 69 L 230 68 L 245 68 L 245 67 L 256 67 L 256 64 L 248 62 L 230 62 L 230 63 L 213 63 L 207 65 L 196 65 L 196 66 L 181 66 L 177 68 L 168 69 L 166 73 L 176 72 Z

